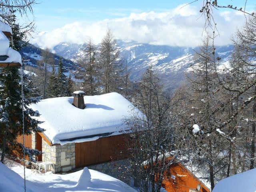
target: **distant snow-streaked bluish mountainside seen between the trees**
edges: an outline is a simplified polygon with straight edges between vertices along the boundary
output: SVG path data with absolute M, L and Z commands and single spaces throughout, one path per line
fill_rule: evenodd
M 166 88 L 174 89 L 185 79 L 185 72 L 194 64 L 193 55 L 198 48 L 160 46 L 137 42 L 117 41 L 120 54 L 128 60 L 128 70 L 132 81 L 139 80 L 149 66 L 162 78 Z M 53 48 L 54 52 L 66 59 L 73 60 L 81 52 L 81 45 L 61 43 Z M 216 56 L 225 62 L 233 46 L 216 47 Z

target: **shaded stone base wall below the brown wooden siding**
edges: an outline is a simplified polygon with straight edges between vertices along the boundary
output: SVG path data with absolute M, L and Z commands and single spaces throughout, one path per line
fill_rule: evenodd
M 111 161 L 105 162 L 96 165 L 87 166 L 89 169 L 96 170 L 117 178 L 126 184 L 130 184 L 131 178 L 130 174 L 126 171 L 127 160 L 118 160 L 118 161 Z

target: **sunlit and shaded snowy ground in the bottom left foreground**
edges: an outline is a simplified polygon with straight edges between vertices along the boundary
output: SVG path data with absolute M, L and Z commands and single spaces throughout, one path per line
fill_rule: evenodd
M 14 163 L 10 168 L 0 163 L 0 191 L 24 191 L 23 166 Z M 124 182 L 98 171 L 80 170 L 61 175 L 32 173 L 26 168 L 27 192 L 136 192 Z

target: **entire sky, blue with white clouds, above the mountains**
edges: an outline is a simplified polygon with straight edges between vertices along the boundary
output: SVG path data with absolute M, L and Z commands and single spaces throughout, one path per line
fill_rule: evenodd
M 33 7 L 36 34 L 32 43 L 52 48 L 60 42 L 82 44 L 91 37 L 100 43 L 106 29 L 116 38 L 141 43 L 198 46 L 204 18 L 202 0 L 42 0 Z M 246 0 L 218 0 L 222 5 L 244 7 Z M 247 0 L 246 10 L 255 10 L 255 0 Z M 183 8 L 181 8 L 183 7 Z M 230 44 L 242 27 L 242 12 L 220 9 L 214 13 L 221 36 L 216 44 Z

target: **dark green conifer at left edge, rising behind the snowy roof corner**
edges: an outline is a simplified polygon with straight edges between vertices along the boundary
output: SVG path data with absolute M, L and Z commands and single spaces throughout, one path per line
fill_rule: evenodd
M 24 35 L 20 33 L 19 25 L 16 24 L 16 17 L 12 12 L 12 22 L 15 26 L 13 30 L 14 42 L 20 43 L 24 40 Z M 14 45 L 16 50 L 21 48 L 21 45 Z M 20 73 L 18 68 L 5 67 L 0 69 L 0 134 L 3 135 L 0 147 L 2 149 L 1 162 L 4 163 L 6 154 L 11 154 L 14 150 L 20 155 L 28 154 L 30 160 L 33 160 L 34 155 L 39 155 L 41 152 L 29 148 L 23 148 L 22 144 L 18 143 L 16 138 L 22 135 L 22 94 Z M 29 87 L 28 76 L 24 75 L 24 133 L 31 134 L 32 132 L 42 132 L 38 124 L 40 122 L 32 118 L 32 116 L 39 116 L 28 106 L 40 100 L 38 94 L 34 92 L 35 89 Z M 33 95 L 33 96 L 32 96 Z M 32 97 L 30 97 L 32 96 Z M 21 155 L 22 156 L 22 155 Z

